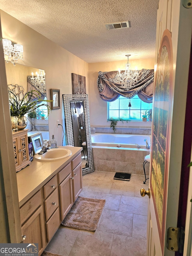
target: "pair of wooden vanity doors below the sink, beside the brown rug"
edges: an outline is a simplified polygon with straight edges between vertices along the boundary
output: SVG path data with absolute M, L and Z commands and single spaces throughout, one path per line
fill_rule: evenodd
M 81 154 L 58 173 L 61 221 L 82 191 Z

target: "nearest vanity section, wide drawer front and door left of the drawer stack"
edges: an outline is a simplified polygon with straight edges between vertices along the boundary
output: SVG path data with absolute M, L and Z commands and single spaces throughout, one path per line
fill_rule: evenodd
M 39 190 L 20 208 L 21 231 L 24 243 L 38 243 L 39 255 L 45 244 L 44 212 Z

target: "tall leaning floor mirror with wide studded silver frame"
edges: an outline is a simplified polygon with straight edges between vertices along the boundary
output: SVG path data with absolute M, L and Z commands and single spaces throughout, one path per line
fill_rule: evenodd
M 87 94 L 63 95 L 67 144 L 82 147 L 82 174 L 91 173 L 93 167 L 93 153 L 91 144 L 91 129 Z

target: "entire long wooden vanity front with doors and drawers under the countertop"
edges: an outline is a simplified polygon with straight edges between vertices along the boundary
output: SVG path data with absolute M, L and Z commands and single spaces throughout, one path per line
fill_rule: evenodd
M 39 256 L 81 191 L 82 167 L 79 154 L 48 182 L 44 182 L 20 207 L 23 242 L 38 243 Z

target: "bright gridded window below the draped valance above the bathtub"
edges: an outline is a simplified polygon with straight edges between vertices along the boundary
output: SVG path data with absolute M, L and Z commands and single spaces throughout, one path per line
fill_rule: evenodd
M 152 103 L 141 101 L 138 95 L 131 98 L 131 107 L 128 107 L 129 101 L 128 98 L 120 96 L 115 101 L 107 102 L 107 119 L 113 117 L 130 121 L 140 121 L 143 116 L 141 112 L 152 108 Z

